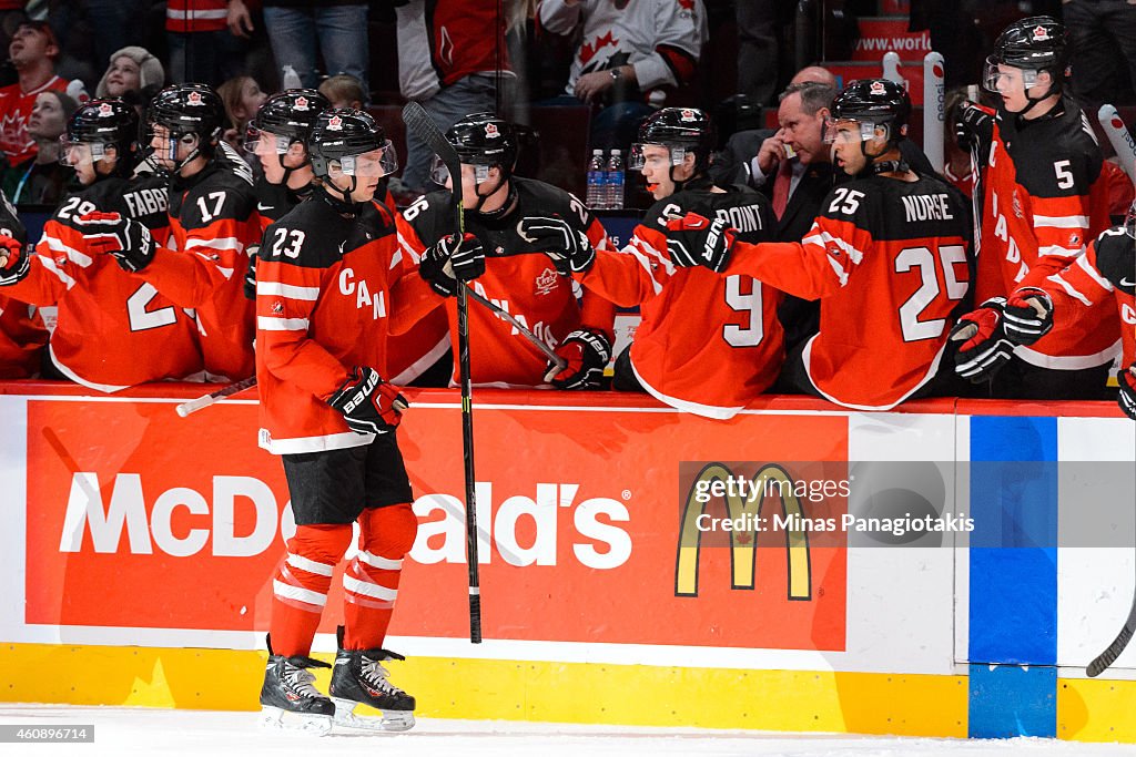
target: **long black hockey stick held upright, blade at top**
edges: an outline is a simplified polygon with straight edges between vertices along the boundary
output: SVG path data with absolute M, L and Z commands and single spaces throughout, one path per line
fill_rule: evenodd
M 402 120 L 415 136 L 442 159 L 450 171 L 453 196 L 454 220 L 458 233 L 465 236 L 466 216 L 461 208 L 461 160 L 458 151 L 445 138 L 442 131 L 431 120 L 426 109 L 417 102 L 408 102 L 402 109 Z M 465 457 L 466 477 L 466 562 L 469 567 L 469 640 L 482 642 L 482 588 L 477 565 L 477 495 L 474 478 L 474 398 L 469 380 L 469 303 L 466 298 L 469 287 L 458 286 L 458 365 L 461 370 L 461 452 Z

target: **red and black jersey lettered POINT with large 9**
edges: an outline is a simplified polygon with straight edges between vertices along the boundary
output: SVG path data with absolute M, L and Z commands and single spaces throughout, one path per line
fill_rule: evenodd
M 648 392 L 673 407 L 726 419 L 777 378 L 785 358 L 780 293 L 741 274 L 676 268 L 667 254 L 666 224 L 690 211 L 726 218 L 743 242 L 772 237 L 763 195 L 679 192 L 648 211 L 624 251 L 596 253 L 592 269 L 577 277 L 617 305 L 640 305 L 630 360 Z

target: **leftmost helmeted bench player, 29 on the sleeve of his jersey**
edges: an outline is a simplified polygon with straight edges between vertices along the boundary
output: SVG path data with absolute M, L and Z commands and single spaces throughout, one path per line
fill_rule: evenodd
M 58 306 L 47 375 L 100 392 L 201 371 L 192 319 L 151 284 L 98 254 L 80 221 L 112 213 L 133 219 L 140 239 L 165 238 L 165 182 L 128 178 L 137 163 L 136 137 L 135 110 L 120 100 L 80 107 L 67 124 L 62 160 L 82 188 L 64 197 L 44 225 L 35 254 L 9 256 L 0 272 L 0 284 L 10 285 L 6 294 Z

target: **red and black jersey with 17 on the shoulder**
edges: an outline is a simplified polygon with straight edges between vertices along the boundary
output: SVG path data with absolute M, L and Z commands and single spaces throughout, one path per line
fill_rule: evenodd
M 247 167 L 245 167 L 247 168 Z M 220 159 L 169 187 L 169 239 L 134 274 L 197 313 L 211 379 L 252 375 L 252 303 L 244 296 L 245 247 L 260 241 L 251 175 Z

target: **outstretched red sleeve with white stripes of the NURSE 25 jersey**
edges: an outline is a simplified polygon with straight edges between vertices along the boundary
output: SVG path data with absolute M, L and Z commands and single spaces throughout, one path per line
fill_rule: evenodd
M 801 242 L 734 244 L 724 275 L 741 274 L 803 300 L 817 300 L 847 285 L 874 242 L 867 230 L 841 218 L 818 216 Z

